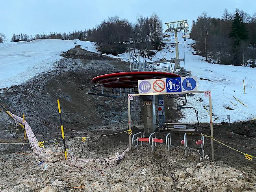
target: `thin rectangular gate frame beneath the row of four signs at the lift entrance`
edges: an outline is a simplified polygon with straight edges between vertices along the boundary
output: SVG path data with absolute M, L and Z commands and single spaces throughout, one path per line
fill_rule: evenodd
M 205 91 L 184 91 L 184 92 L 171 92 L 171 93 L 143 93 L 143 94 L 129 94 L 132 96 L 147 96 L 147 95 L 167 95 L 167 94 L 191 94 L 191 93 L 204 93 Z M 210 129 L 211 129 L 211 160 L 214 161 L 214 148 L 213 148 L 213 122 L 212 122 L 212 106 L 211 96 L 209 97 L 210 106 Z M 128 126 L 131 129 L 131 100 L 128 97 Z M 129 147 L 132 148 L 132 136 L 129 135 Z

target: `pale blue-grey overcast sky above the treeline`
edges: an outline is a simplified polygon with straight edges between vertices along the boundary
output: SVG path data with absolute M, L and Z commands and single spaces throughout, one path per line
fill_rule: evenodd
M 135 22 L 137 15 L 150 17 L 156 12 L 163 24 L 197 19 L 202 12 L 221 17 L 224 9 L 238 7 L 254 15 L 255 0 L 2 0 L 0 33 L 11 39 L 13 33 L 60 33 L 93 28 L 111 16 Z M 164 28 L 166 28 L 164 26 Z

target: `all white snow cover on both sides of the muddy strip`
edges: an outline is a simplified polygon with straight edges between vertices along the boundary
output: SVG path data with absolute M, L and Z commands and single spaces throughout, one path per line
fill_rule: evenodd
M 157 51 L 156 55 L 151 57 L 151 61 L 175 57 L 174 37 L 173 34 L 170 35 L 171 38 L 165 39 L 168 41 L 163 41 L 163 50 Z M 204 61 L 204 57 L 195 55 L 195 50 L 191 47 L 194 41 L 187 39 L 184 42 L 182 35 L 181 32 L 178 33 L 179 53 L 180 58 L 184 58 L 185 61 L 180 65 L 186 70 L 191 70 L 192 75 L 197 77 L 198 90 L 211 90 L 213 122 L 227 122 L 226 115 L 230 115 L 231 122 L 255 118 L 256 68 L 210 64 Z M 99 53 L 93 42 L 79 40 L 41 39 L 30 42 L 0 43 L 0 88 L 20 85 L 40 73 L 54 70 L 58 65 L 56 61 L 61 59 L 61 52 L 74 48 L 75 45 L 81 45 L 85 50 Z M 119 56 L 118 58 L 124 61 L 130 58 L 129 53 Z M 243 90 L 243 79 L 247 85 L 246 94 Z M 178 104 L 184 102 L 184 99 L 178 98 L 175 101 Z M 203 94 L 188 97 L 187 106 L 198 110 L 200 122 L 210 122 L 209 100 Z M 196 122 L 193 109 L 182 109 L 182 113 L 184 117 L 180 122 Z

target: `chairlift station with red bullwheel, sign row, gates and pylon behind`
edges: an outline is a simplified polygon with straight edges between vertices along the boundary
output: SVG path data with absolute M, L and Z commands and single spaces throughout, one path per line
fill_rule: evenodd
M 186 41 L 186 32 L 188 31 L 187 20 L 180 20 L 175 22 L 165 23 L 167 29 L 165 32 L 174 33 L 176 57 L 171 60 L 163 61 L 147 61 L 140 51 L 137 54 L 130 53 L 130 72 L 120 72 L 113 74 L 104 74 L 92 79 L 95 85 L 92 89 L 95 92 L 88 92 L 97 96 L 107 96 L 111 98 L 122 98 L 128 102 L 128 127 L 132 130 L 131 119 L 131 105 L 135 97 L 140 97 L 143 102 L 143 124 L 144 131 L 148 137 L 143 137 L 141 132 L 135 133 L 133 136 L 129 134 L 130 148 L 139 148 L 143 142 L 148 142 L 152 150 L 156 143 L 163 143 L 163 139 L 156 138 L 156 131 L 162 129 L 166 131 L 166 146 L 169 150 L 171 145 L 171 133 L 183 132 L 184 139 L 181 144 L 185 146 L 186 156 L 186 134 L 187 132 L 194 132 L 199 124 L 197 110 L 191 106 L 187 106 L 187 97 L 193 97 L 195 94 L 204 94 L 209 98 L 210 105 L 210 127 L 211 127 L 211 153 L 214 161 L 213 151 L 213 124 L 211 111 L 211 91 L 198 90 L 197 78 L 193 76 L 190 70 L 186 70 L 180 66 L 180 61 L 184 61 L 179 57 L 178 50 L 178 31 L 184 30 L 184 41 Z M 165 118 L 165 99 L 168 98 L 185 98 L 182 105 L 177 105 L 176 109 L 192 108 L 197 117 L 197 123 L 181 123 L 181 122 L 167 122 Z M 158 119 L 158 121 L 157 121 Z M 157 124 L 158 122 L 158 124 Z M 140 144 L 139 144 L 140 143 Z M 204 151 L 204 137 L 197 142 Z M 204 153 L 204 152 L 203 152 Z M 204 155 L 203 155 L 204 158 Z

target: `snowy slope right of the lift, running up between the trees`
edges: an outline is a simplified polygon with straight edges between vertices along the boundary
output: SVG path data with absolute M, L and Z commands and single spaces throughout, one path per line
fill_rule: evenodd
M 168 60 L 175 57 L 174 33 L 169 33 L 169 35 L 171 35 L 171 38 L 165 38 L 165 41 L 163 41 L 163 50 L 157 51 L 156 55 L 150 57 L 151 61 L 158 61 L 163 58 Z M 255 118 L 256 68 L 208 63 L 204 61 L 205 57 L 195 55 L 196 51 L 191 47 L 195 41 L 188 38 L 187 41 L 184 41 L 182 35 L 184 35 L 182 32 L 178 33 L 179 55 L 180 58 L 185 60 L 180 63 L 180 66 L 186 68 L 186 70 L 191 70 L 192 76 L 197 77 L 198 90 L 211 90 L 213 122 L 227 122 L 226 115 L 230 115 L 231 122 Z M 127 61 L 129 55 L 125 53 L 120 57 Z M 150 60 L 148 59 L 148 61 Z M 247 85 L 245 94 L 243 80 Z M 175 100 L 177 104 L 184 102 L 184 99 L 181 98 Z M 204 94 L 195 94 L 194 97 L 188 97 L 186 106 L 197 109 L 200 122 L 210 122 L 209 99 L 205 98 Z M 197 119 L 193 109 L 182 109 L 182 113 L 184 117 L 180 122 L 196 122 Z

